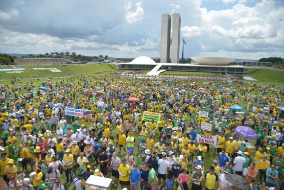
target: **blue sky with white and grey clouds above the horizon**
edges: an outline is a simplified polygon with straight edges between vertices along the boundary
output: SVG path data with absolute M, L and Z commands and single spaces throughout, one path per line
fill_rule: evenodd
M 163 13 L 185 57 L 284 57 L 284 0 L 0 0 L 0 52 L 160 57 Z

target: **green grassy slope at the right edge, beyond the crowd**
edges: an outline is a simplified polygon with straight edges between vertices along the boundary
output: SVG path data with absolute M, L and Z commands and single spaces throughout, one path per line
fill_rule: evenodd
M 269 70 L 269 69 L 248 69 L 245 74 L 258 81 L 250 81 L 259 84 L 274 84 L 284 86 L 284 71 Z

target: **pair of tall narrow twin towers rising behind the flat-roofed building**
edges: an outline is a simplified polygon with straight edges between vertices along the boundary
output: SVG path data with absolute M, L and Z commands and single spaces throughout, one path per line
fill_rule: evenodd
M 171 63 L 179 63 L 180 52 L 180 14 L 172 15 L 172 38 L 170 39 L 171 18 L 169 14 L 162 14 L 162 35 L 161 35 L 161 63 L 169 63 L 169 52 L 171 44 Z M 170 42 L 171 40 L 171 42 Z

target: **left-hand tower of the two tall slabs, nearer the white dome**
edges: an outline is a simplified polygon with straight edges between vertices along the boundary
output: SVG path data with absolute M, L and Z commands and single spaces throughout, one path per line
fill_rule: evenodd
M 162 14 L 161 63 L 169 63 L 170 24 L 171 24 L 170 15 Z

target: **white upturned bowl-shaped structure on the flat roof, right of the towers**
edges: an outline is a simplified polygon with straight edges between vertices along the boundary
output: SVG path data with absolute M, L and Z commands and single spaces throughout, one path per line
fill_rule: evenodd
M 234 57 L 191 57 L 199 65 L 228 65 L 235 61 Z

